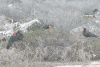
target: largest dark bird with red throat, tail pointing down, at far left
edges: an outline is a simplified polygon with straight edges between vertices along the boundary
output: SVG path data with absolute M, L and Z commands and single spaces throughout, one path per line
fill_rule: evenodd
M 9 49 L 15 41 L 23 40 L 23 38 L 24 36 L 20 31 L 15 32 L 14 35 L 11 36 L 8 41 L 7 49 Z

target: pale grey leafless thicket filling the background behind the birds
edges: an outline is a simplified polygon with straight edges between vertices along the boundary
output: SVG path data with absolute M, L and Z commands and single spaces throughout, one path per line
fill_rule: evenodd
M 99 0 L 4 0 L 0 1 L 0 14 L 22 22 L 37 18 L 46 24 L 71 30 L 89 22 L 79 13 L 93 14 L 94 9 L 100 8 L 99 2 Z M 12 7 L 8 7 L 10 4 Z

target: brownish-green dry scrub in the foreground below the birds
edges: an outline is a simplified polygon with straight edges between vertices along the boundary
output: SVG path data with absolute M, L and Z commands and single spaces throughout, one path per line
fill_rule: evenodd
M 100 39 L 85 38 L 82 33 L 76 36 L 60 29 L 31 27 L 28 33 L 23 34 L 24 41 L 15 42 L 9 50 L 6 49 L 8 42 L 1 42 L 1 65 L 18 64 L 27 67 L 34 65 L 34 62 L 89 61 L 92 58 L 91 51 L 98 57 L 100 55 Z

